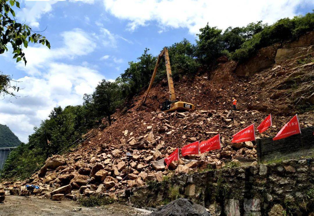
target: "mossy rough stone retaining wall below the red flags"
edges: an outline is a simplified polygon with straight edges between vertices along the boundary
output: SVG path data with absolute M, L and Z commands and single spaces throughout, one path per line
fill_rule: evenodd
M 149 182 L 146 187 L 133 189 L 130 202 L 156 207 L 171 201 L 174 188 L 180 197 L 202 204 L 213 215 L 314 215 L 313 158 Z

